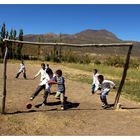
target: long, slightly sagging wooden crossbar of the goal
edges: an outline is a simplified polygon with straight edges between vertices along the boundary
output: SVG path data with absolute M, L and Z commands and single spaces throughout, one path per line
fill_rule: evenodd
M 23 43 L 31 45 L 48 45 L 48 46 L 68 46 L 68 47 L 122 47 L 122 46 L 132 46 L 133 43 L 109 43 L 109 44 L 70 44 L 70 43 L 43 43 L 43 42 L 29 42 L 29 41 L 19 41 L 19 40 L 10 40 L 3 39 L 3 41 L 14 42 L 14 43 Z

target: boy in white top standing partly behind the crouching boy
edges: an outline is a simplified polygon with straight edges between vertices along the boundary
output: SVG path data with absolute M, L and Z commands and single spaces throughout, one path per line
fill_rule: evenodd
M 95 93 L 95 91 L 98 89 L 99 87 L 99 81 L 98 81 L 98 70 L 97 69 L 93 69 L 93 83 L 92 83 L 92 94 Z

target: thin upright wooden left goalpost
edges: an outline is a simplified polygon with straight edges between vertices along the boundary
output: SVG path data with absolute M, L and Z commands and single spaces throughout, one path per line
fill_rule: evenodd
M 6 50 L 3 59 L 4 69 L 3 69 L 3 91 L 2 91 L 2 114 L 5 114 L 5 104 L 6 104 L 6 70 L 7 70 L 7 54 L 8 54 L 8 46 L 7 42 L 5 43 Z

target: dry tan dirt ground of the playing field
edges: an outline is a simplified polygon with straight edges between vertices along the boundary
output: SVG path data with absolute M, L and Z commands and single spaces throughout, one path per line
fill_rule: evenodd
M 6 115 L 0 114 L 0 135 L 140 135 L 140 103 L 121 97 L 125 109 L 103 110 L 98 95 L 91 95 L 91 85 L 66 79 L 66 95 L 69 108 L 60 110 L 59 101 L 53 95 L 48 97 L 48 105 L 40 108 L 26 109 L 29 97 L 36 89 L 39 78 L 32 80 L 40 69 L 40 64 L 26 64 L 27 80 L 22 76 L 15 79 L 19 64 L 8 63 Z M 63 65 L 51 64 L 56 70 L 61 68 L 64 75 L 86 74 Z M 0 93 L 2 93 L 3 65 L 0 64 Z M 87 75 L 90 73 L 87 72 Z M 53 86 L 52 91 L 56 87 Z M 0 106 L 1 106 L 0 94 Z M 37 96 L 33 106 L 42 101 L 43 92 Z M 108 101 L 113 103 L 115 94 L 111 91 Z

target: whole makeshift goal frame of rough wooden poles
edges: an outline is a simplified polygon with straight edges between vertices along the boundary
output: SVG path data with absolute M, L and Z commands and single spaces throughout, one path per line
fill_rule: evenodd
M 6 51 L 5 51 L 5 56 L 4 56 L 4 60 L 3 60 L 3 64 L 4 64 L 4 69 L 3 69 L 3 90 L 2 90 L 2 114 L 5 114 L 5 106 L 6 106 L 6 71 L 7 71 L 7 54 L 8 54 L 8 43 L 13 42 L 13 43 L 21 43 L 21 44 L 30 44 L 30 45 L 47 45 L 47 46 L 67 46 L 67 47 L 97 47 L 97 48 L 101 48 L 101 47 L 128 47 L 128 52 L 127 52 L 127 56 L 126 56 L 126 60 L 125 60 L 125 64 L 124 64 L 124 69 L 123 69 L 123 73 L 122 73 L 122 77 L 121 77 L 121 81 L 119 83 L 119 87 L 116 93 L 116 97 L 115 97 L 115 101 L 114 101 L 114 108 L 116 108 L 119 99 L 120 99 L 120 95 L 121 95 L 121 91 L 123 88 L 123 85 L 125 83 L 125 79 L 127 76 L 127 70 L 129 67 L 129 60 L 130 60 L 130 56 L 131 56 L 131 51 L 133 48 L 133 43 L 109 43 L 109 44 L 69 44 L 69 43 L 44 43 L 44 42 L 28 42 L 28 41 L 18 41 L 18 40 L 10 40 L 10 39 L 4 39 L 3 42 L 5 42 L 6 44 Z

